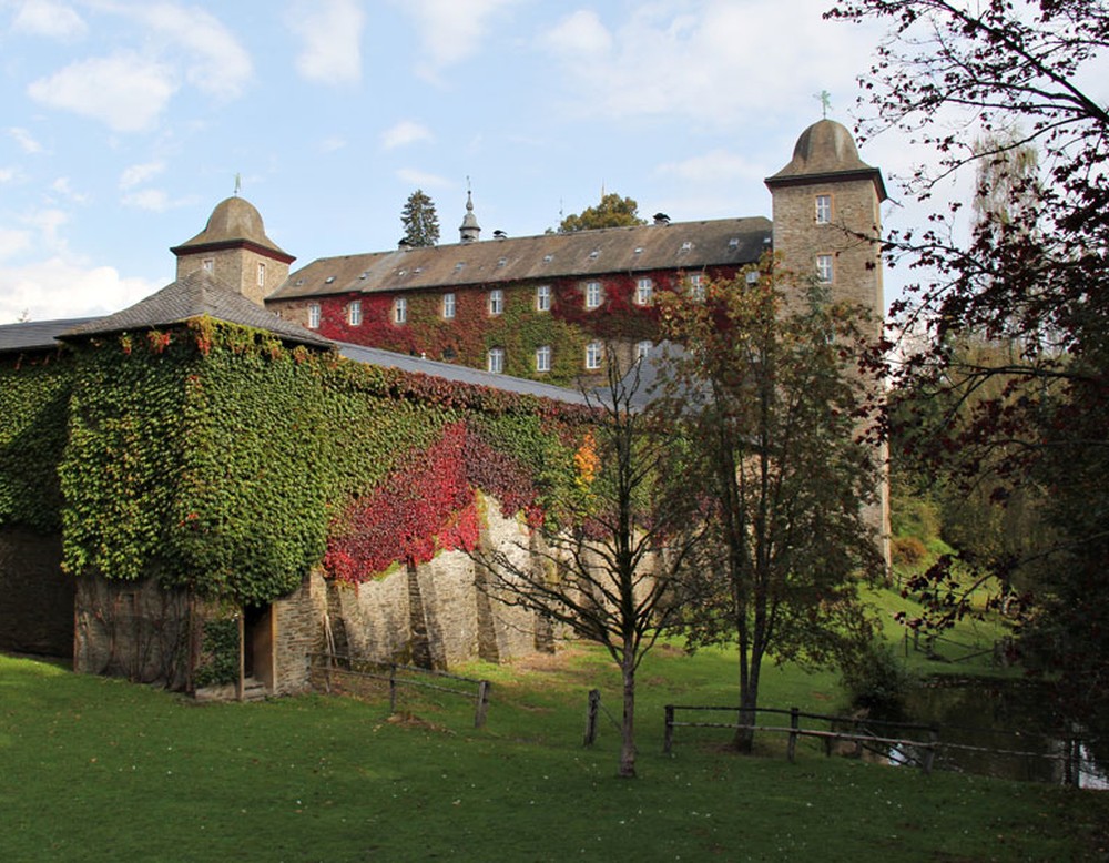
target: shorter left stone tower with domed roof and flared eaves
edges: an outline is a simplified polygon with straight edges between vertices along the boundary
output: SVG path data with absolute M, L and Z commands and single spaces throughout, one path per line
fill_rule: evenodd
M 288 278 L 296 260 L 266 236 L 258 211 L 237 195 L 216 204 L 204 230 L 170 251 L 177 256 L 177 278 L 206 270 L 258 305 Z

